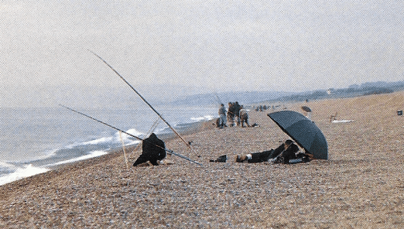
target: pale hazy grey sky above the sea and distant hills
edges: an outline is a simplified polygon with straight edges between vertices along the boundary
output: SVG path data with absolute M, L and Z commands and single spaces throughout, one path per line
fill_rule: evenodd
M 127 95 L 87 49 L 153 98 L 344 88 L 404 73 L 402 1 L 16 0 L 0 1 L 0 21 L 0 107 Z M 167 85 L 177 90 L 159 90 Z

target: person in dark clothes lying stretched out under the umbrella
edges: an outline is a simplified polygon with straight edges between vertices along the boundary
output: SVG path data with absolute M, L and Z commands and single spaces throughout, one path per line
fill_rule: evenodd
M 285 143 L 282 143 L 277 147 L 277 149 L 270 149 L 269 151 L 264 152 L 257 152 L 252 154 L 247 154 L 245 156 L 236 156 L 236 162 L 249 162 L 249 163 L 256 163 L 256 162 L 264 162 L 270 159 L 275 159 L 275 162 L 283 162 L 288 164 L 289 160 L 297 159 L 303 155 L 299 154 L 296 156 L 296 153 L 299 152 L 299 147 L 293 143 L 292 140 L 288 139 Z

